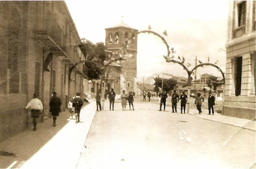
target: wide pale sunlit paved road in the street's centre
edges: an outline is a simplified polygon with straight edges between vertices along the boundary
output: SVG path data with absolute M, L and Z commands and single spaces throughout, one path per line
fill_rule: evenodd
M 115 111 L 96 112 L 77 169 L 226 169 L 255 163 L 255 131 L 158 109 L 153 102 L 137 102 L 135 111 L 122 111 L 118 101 Z

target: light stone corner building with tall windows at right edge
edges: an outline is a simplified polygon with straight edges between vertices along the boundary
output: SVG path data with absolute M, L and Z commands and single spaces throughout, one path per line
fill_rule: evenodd
M 255 118 L 255 1 L 229 1 L 224 115 Z

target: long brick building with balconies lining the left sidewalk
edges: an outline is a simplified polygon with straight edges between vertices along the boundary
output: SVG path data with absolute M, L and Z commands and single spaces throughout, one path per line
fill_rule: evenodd
M 83 93 L 80 37 L 64 1 L 0 1 L 0 141 L 31 125 L 25 110 L 34 93 L 50 115 L 52 92 L 61 110 L 76 92 Z

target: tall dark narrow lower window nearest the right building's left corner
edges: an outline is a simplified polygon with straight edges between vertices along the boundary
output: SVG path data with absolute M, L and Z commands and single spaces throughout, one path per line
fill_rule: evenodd
M 241 95 L 242 81 L 242 57 L 237 57 L 235 60 L 235 93 L 236 96 Z

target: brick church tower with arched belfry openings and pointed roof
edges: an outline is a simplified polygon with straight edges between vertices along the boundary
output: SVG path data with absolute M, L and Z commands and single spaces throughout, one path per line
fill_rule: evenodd
M 127 60 L 117 61 L 122 67 L 120 74 L 120 91 L 136 92 L 137 77 L 137 29 L 131 28 L 123 21 L 111 28 L 105 28 L 105 44 L 112 51 L 112 57 L 126 56 Z M 127 47 L 124 45 L 128 42 Z

